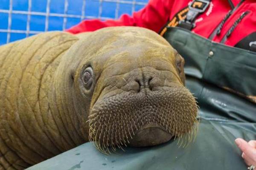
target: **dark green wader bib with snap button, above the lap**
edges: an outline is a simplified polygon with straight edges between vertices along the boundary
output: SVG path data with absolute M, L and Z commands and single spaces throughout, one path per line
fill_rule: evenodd
M 201 118 L 256 122 L 255 52 L 212 42 L 178 27 L 168 28 L 164 37 L 185 59 L 186 86 L 197 98 Z

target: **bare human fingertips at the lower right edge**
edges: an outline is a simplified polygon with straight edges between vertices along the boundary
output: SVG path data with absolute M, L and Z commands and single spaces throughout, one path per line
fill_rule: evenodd
M 242 158 L 248 166 L 256 167 L 256 140 L 246 142 L 244 139 L 237 138 L 236 145 L 241 149 Z

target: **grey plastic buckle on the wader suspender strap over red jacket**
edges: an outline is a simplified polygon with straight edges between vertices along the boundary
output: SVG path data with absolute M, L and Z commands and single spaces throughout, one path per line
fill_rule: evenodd
M 193 2 L 189 4 L 189 11 L 185 20 L 179 22 L 179 27 L 188 30 L 195 28 L 195 18 L 206 10 L 210 1 L 211 0 L 193 0 Z

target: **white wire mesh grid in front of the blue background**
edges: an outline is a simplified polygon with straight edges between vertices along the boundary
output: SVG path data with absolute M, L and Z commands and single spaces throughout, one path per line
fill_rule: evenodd
M 108 20 L 113 19 L 110 17 L 102 17 L 102 3 L 103 2 L 110 2 L 110 3 L 116 3 L 116 10 L 115 10 L 115 19 L 118 18 L 119 14 L 119 4 L 131 4 L 131 12 L 133 13 L 135 11 L 135 5 L 141 5 L 145 6 L 147 3 L 145 2 L 137 2 L 136 0 L 95 0 L 99 1 L 99 14 L 98 16 L 89 16 L 85 14 L 85 7 L 86 7 L 86 0 L 82 0 L 82 6 L 81 6 L 81 15 L 76 14 L 67 14 L 68 11 L 68 0 L 64 0 L 64 13 L 51 13 L 50 12 L 50 3 L 51 0 L 47 0 L 47 8 L 46 12 L 37 12 L 37 11 L 31 11 L 32 8 L 32 0 L 28 0 L 28 10 L 27 11 L 19 11 L 19 10 L 13 10 L 13 0 L 9 0 L 9 10 L 6 9 L 0 9 L 1 13 L 8 14 L 8 27 L 7 29 L 0 29 L 0 32 L 7 33 L 6 43 L 10 42 L 11 33 L 19 33 L 19 34 L 26 34 L 26 37 L 29 37 L 29 34 L 38 34 L 43 31 L 32 31 L 30 30 L 30 22 L 31 22 L 31 16 L 37 15 L 37 16 L 45 16 L 45 28 L 44 31 L 48 31 L 49 28 L 49 17 L 61 17 L 63 18 L 63 25 L 62 30 L 66 29 L 67 26 L 67 18 L 79 18 L 80 20 L 84 19 L 101 19 L 101 20 Z M 24 14 L 27 15 L 27 22 L 26 22 L 26 30 L 14 30 L 12 28 L 12 14 Z

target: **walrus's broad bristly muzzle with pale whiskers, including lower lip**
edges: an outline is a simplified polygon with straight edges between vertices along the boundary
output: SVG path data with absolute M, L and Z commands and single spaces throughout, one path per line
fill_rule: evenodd
M 195 99 L 185 87 L 124 92 L 95 104 L 89 117 L 90 140 L 102 152 L 109 147 L 162 144 L 185 134 L 189 142 L 196 113 Z

